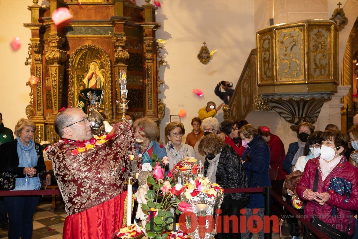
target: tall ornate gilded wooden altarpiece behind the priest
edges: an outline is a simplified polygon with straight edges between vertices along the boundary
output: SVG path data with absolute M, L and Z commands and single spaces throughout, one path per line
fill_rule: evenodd
M 25 64 L 30 64 L 31 74 L 39 81 L 30 85 L 26 115 L 37 125 L 36 142 L 58 140 L 54 117 L 61 107 L 77 105 L 78 92 L 87 87 L 84 78 L 92 62 L 104 78 L 101 112 L 110 123 L 121 119 L 116 99 L 120 100 L 119 71 L 125 69 L 128 111 L 159 125 L 165 110 L 158 99 L 163 81 L 158 78 L 161 47 L 157 46 L 155 32 L 160 25 L 155 22 L 156 7 L 145 1 L 145 5 L 137 6 L 129 0 L 48 0 L 49 5 L 41 7 L 33 0 L 34 4 L 28 6 L 31 23 L 24 26 L 32 37 Z M 51 19 L 53 11 L 61 7 L 73 15 L 62 28 Z

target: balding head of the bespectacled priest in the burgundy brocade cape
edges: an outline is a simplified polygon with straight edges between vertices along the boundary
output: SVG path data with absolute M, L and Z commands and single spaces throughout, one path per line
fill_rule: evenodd
M 89 140 L 92 138 L 91 123 L 86 118 L 86 114 L 77 108 L 70 107 L 56 115 L 54 128 L 55 132 L 65 139 Z

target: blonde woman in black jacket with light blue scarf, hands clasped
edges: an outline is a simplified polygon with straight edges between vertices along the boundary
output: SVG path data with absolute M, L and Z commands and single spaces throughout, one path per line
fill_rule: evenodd
M 46 169 L 42 147 L 32 139 L 36 125 L 20 119 L 15 126 L 16 139 L 0 145 L 0 188 L 2 190 L 39 190 Z M 9 213 L 9 238 L 30 239 L 32 219 L 39 196 L 4 197 Z

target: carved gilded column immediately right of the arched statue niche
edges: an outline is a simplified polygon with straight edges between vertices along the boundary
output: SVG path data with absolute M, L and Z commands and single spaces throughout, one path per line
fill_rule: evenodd
M 126 37 L 123 36 L 117 36 L 117 37 L 113 37 L 113 44 L 114 44 L 114 58 L 115 58 L 115 65 L 113 66 L 113 71 L 115 74 L 115 81 L 116 81 L 116 99 L 120 99 L 121 98 L 121 86 L 119 84 L 119 72 L 122 71 L 123 69 L 127 72 L 127 66 L 126 64 L 124 64 L 124 62 L 129 58 L 129 53 L 126 49 L 124 49 L 124 45 L 126 43 Z M 115 114 L 115 118 L 116 120 L 120 120 L 121 117 L 121 110 L 120 110 L 120 105 L 116 104 L 116 114 Z

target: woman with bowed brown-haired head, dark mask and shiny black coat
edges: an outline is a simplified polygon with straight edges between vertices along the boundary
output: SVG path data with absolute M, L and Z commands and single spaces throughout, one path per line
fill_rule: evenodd
M 206 155 L 204 173 L 209 181 L 219 184 L 222 188 L 248 187 L 246 172 L 242 167 L 240 157 L 218 135 L 208 134 L 204 136 L 199 143 L 199 153 Z M 233 225 L 233 220 L 231 220 L 229 232 L 221 230 L 223 233 L 218 233 L 215 238 L 226 238 L 224 233 L 229 233 L 229 238 L 241 238 L 241 234 L 238 233 L 240 231 L 240 210 L 245 207 L 249 198 L 250 193 L 225 194 L 220 216 L 228 215 L 230 217 L 234 215 L 238 219 L 238 224 Z

